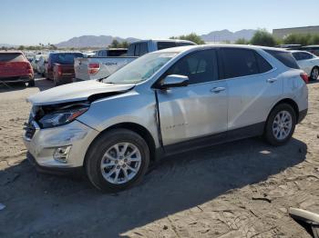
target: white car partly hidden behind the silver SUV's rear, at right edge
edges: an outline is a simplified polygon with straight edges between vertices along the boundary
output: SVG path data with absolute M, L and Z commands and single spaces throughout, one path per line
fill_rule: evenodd
M 293 57 L 311 80 L 319 76 L 319 57 L 306 51 L 293 50 Z

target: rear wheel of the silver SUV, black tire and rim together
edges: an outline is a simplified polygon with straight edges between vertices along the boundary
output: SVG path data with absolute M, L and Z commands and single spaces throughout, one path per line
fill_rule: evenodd
M 286 120 L 283 120 L 284 115 Z M 275 146 L 286 144 L 293 136 L 295 124 L 296 113 L 293 107 L 290 104 L 278 104 L 268 116 L 264 137 Z

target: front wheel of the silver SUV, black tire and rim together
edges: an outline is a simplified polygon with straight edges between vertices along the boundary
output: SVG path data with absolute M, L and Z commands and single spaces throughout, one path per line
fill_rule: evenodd
M 118 150 L 116 150 L 117 144 Z M 125 146 L 127 146 L 126 149 Z M 123 151 L 124 154 L 121 155 Z M 137 152 L 128 156 L 128 154 L 134 153 L 134 151 Z M 130 158 L 132 162 L 128 162 L 128 159 L 125 162 L 126 158 Z M 105 166 L 104 168 L 101 167 L 102 164 Z M 111 165 L 107 166 L 106 164 Z M 98 137 L 89 147 L 85 167 L 89 181 L 99 190 L 116 193 L 128 189 L 134 184 L 139 183 L 149 168 L 148 144 L 146 144 L 139 134 L 127 129 L 111 130 Z M 136 169 L 136 172 L 130 170 L 129 167 Z M 117 174 L 118 180 L 116 180 Z

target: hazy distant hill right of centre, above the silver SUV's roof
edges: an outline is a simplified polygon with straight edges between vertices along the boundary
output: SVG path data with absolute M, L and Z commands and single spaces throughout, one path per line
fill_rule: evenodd
M 238 32 L 231 32 L 229 30 L 214 31 L 207 35 L 201 35 L 201 39 L 203 39 L 205 42 L 224 42 L 224 41 L 234 42 L 240 38 L 251 40 L 255 32 L 256 30 L 252 30 L 252 29 L 249 29 L 249 30 L 244 29 Z

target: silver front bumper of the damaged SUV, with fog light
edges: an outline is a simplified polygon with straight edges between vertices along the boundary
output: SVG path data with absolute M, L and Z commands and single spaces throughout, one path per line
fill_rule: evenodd
M 46 129 L 30 121 L 24 142 L 40 167 L 68 169 L 83 166 L 87 148 L 97 135 L 98 131 L 78 121 Z

